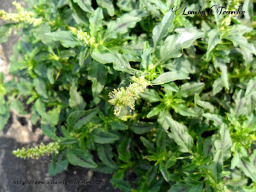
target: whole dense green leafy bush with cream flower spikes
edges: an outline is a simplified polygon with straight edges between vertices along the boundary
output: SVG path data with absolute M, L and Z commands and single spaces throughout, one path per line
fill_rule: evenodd
M 179 0 L 27 0 L 1 11 L 1 42 L 12 29 L 22 38 L 16 78 L 1 76 L 0 129 L 12 108 L 54 141 L 13 153 L 52 153 L 51 175 L 68 164 L 114 173 L 123 191 L 255 191 L 253 2 L 189 2 L 186 13 L 202 6 L 202 17 L 175 14 Z M 221 4 L 245 13 L 211 14 Z

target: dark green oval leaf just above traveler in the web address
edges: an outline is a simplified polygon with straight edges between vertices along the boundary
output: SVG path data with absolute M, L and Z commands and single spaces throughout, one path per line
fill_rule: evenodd
M 87 150 L 75 149 L 68 150 L 68 161 L 73 165 L 83 166 L 84 168 L 96 168 L 97 164 L 93 161 L 93 156 Z

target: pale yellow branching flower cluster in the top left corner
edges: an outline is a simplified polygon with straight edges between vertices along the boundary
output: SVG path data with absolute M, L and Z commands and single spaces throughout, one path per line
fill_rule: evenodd
M 33 18 L 34 14 L 31 12 L 24 11 L 24 8 L 20 3 L 14 1 L 12 3 L 16 6 L 17 13 L 6 13 L 4 10 L 0 10 L 0 18 L 3 20 L 10 20 L 12 22 L 28 22 L 29 24 L 33 24 L 33 26 L 38 26 L 42 23 L 42 19 Z

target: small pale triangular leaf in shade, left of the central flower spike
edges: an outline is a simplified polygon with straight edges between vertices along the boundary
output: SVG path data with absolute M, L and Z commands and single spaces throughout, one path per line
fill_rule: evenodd
M 69 91 L 70 99 L 68 100 L 70 108 L 73 111 L 84 110 L 86 107 L 86 102 L 83 97 L 77 92 L 77 88 L 74 84 L 72 84 Z

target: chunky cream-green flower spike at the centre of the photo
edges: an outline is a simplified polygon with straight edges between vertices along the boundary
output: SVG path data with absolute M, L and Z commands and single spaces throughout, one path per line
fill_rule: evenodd
M 117 90 L 114 89 L 110 92 L 108 101 L 111 105 L 115 106 L 114 114 L 118 116 L 121 110 L 125 110 L 127 107 L 135 109 L 135 101 L 140 97 L 139 94 L 144 92 L 148 86 L 148 81 L 144 76 L 132 77 L 134 83 L 130 83 L 126 89 L 122 86 Z

